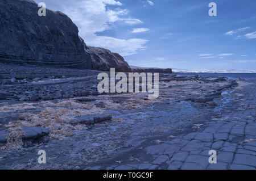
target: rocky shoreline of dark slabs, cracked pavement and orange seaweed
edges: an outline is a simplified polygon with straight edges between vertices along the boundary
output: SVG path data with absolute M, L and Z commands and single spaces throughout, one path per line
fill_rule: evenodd
M 0 66 L 0 169 L 255 169 L 253 80 L 160 73 L 150 100 L 99 94 L 99 71 Z

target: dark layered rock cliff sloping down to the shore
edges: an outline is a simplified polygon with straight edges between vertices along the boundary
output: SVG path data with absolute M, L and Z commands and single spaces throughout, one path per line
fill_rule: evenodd
M 67 15 L 38 10 L 31 0 L 0 1 L 0 62 L 130 71 L 119 54 L 88 48 Z

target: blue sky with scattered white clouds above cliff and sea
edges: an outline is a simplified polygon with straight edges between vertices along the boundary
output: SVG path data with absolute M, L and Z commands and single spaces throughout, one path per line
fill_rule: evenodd
M 256 70 L 255 0 L 36 0 L 67 14 L 90 46 L 129 65 Z M 209 16 L 209 3 L 217 16 Z

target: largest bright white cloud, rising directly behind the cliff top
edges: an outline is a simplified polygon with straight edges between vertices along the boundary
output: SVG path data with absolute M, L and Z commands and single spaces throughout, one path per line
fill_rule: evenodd
M 117 39 L 109 36 L 98 36 L 112 28 L 114 23 L 142 23 L 139 19 L 126 18 L 129 10 L 121 9 L 122 3 L 115 0 L 66 0 L 59 2 L 60 10 L 67 14 L 79 28 L 79 35 L 85 43 L 94 47 L 103 47 L 129 56 L 146 49 L 146 39 Z M 111 9 L 108 6 L 112 6 Z

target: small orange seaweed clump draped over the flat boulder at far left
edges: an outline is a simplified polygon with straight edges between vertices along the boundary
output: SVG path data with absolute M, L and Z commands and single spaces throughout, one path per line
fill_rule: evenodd
M 1 150 L 14 150 L 19 149 L 23 145 L 22 136 L 25 134 L 20 127 L 8 128 L 10 133 L 6 137 L 6 145 L 2 146 Z

